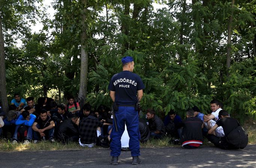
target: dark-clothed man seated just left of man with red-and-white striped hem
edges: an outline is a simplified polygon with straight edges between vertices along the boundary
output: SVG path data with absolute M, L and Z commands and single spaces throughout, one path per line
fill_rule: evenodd
M 176 114 L 175 111 L 170 110 L 167 116 L 164 118 L 164 126 L 166 127 L 167 135 L 179 138 L 182 131 L 182 128 L 180 126 L 181 123 L 181 117 Z

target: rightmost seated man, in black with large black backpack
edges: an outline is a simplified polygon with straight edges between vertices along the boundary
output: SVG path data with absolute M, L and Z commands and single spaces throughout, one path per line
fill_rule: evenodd
M 225 110 L 221 110 L 218 115 L 220 120 L 218 120 L 216 124 L 208 131 L 208 140 L 221 149 L 244 148 L 248 143 L 248 135 L 244 132 L 242 127 L 239 127 L 241 125 L 238 123 L 238 121 L 235 118 L 229 117 L 229 114 Z M 212 134 L 219 126 L 223 127 L 225 133 L 225 136 L 221 138 Z M 236 130 L 239 128 L 240 130 Z

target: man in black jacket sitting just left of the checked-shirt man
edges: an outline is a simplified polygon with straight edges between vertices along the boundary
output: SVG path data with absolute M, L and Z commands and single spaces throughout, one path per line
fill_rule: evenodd
M 78 126 L 77 126 L 78 116 L 77 114 L 72 114 L 70 118 L 64 120 L 60 123 L 59 130 L 57 132 L 57 138 L 63 143 L 77 142 L 79 138 Z

